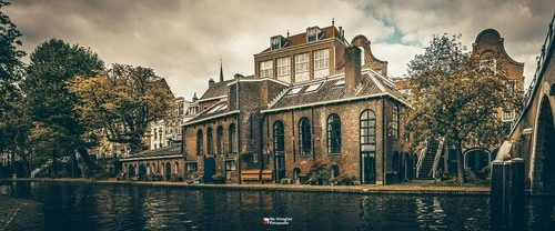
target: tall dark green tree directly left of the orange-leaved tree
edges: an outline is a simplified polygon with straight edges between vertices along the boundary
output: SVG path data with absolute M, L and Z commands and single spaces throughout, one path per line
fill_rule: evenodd
M 34 49 L 21 84 L 24 110 L 33 124 L 31 143 L 68 150 L 72 157 L 77 150 L 85 164 L 94 168 L 87 148 L 95 145 L 97 140 L 79 123 L 80 114 L 73 110 L 78 98 L 68 91 L 67 81 L 74 76 L 94 77 L 103 69 L 103 61 L 92 50 L 59 39 Z

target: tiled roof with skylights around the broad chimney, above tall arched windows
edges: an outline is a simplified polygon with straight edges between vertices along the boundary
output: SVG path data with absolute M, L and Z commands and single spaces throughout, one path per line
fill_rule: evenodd
M 392 82 L 384 80 L 379 73 L 373 70 L 364 70 L 361 76 L 361 87 L 355 96 L 346 97 L 344 76 L 331 79 L 322 79 L 321 81 L 312 81 L 302 86 L 290 87 L 287 93 L 276 99 L 269 110 L 279 110 L 285 108 L 297 108 L 307 104 L 320 104 L 329 101 L 343 100 L 349 98 L 360 98 L 377 93 L 389 93 L 397 99 L 402 98 L 401 93 L 394 88 Z M 342 84 L 343 83 L 343 84 Z M 316 90 L 310 91 L 321 84 Z

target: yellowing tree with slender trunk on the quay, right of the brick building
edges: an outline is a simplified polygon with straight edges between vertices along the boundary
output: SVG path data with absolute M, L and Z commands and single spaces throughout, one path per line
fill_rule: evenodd
M 405 121 L 413 148 L 426 139 L 445 138 L 454 143 L 457 181 L 462 183 L 466 181 L 462 148 L 501 143 L 497 113 L 515 109 L 516 98 L 505 86 L 503 67 L 471 57 L 460 38 L 434 36 L 424 54 L 408 63 L 413 108 Z

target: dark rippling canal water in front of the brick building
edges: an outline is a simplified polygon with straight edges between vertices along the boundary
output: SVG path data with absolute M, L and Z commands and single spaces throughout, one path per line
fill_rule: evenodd
M 43 203 L 47 230 L 490 230 L 488 197 L 50 182 L 0 182 L 0 194 Z M 555 230 L 554 204 L 527 199 L 527 229 Z

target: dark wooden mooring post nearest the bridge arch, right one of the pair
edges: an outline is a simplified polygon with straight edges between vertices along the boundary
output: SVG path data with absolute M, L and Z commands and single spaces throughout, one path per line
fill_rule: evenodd
M 515 158 L 511 162 L 511 228 L 524 230 L 524 160 Z

